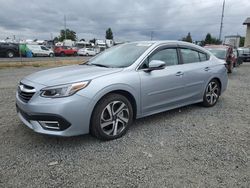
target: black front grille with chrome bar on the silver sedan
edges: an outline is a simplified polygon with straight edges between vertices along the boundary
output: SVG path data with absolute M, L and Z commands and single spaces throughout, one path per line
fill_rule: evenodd
M 32 86 L 28 86 L 20 83 L 18 86 L 18 96 L 24 102 L 28 102 L 31 97 L 35 94 L 36 90 Z

